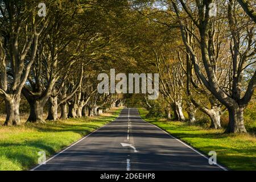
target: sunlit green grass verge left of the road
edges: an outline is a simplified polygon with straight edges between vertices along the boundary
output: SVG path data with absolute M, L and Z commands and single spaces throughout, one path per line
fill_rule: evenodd
M 0 171 L 30 169 L 38 163 L 39 151 L 46 152 L 49 157 L 113 121 L 120 111 L 115 109 L 92 118 L 0 127 Z

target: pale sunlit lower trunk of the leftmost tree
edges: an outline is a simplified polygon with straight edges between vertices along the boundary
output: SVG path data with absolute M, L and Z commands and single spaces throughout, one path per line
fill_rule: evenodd
M 5 98 L 6 121 L 3 125 L 5 126 L 20 125 L 19 103 L 20 103 L 20 96 L 18 95 L 10 98 Z

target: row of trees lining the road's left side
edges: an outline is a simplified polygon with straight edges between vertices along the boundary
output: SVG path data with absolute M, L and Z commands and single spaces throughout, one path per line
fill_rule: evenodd
M 22 95 L 30 105 L 27 122 L 97 115 L 120 101 L 98 94 L 97 75 L 108 65 L 114 39 L 127 24 L 126 1 L 0 2 L 0 96 L 6 105 L 4 125 L 20 125 Z M 118 31 L 119 30 L 119 31 Z M 118 104 L 118 103 L 117 103 Z

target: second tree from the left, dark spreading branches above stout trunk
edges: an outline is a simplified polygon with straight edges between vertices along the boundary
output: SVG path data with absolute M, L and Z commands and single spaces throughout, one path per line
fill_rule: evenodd
M 64 14 L 65 12 L 63 12 Z M 55 14 L 51 19 L 45 38 L 40 42 L 38 56 L 28 76 L 29 86 L 24 86 L 22 93 L 30 104 L 28 122 L 44 122 L 43 109 L 51 95 L 55 94 L 55 83 L 67 78 L 72 64 L 79 60 L 77 53 L 82 52 L 80 43 L 76 46 L 68 34 L 73 28 L 69 16 Z M 69 48 L 68 46 L 74 46 Z M 66 73 L 63 75 L 63 73 Z M 63 76 L 61 78 L 61 76 Z

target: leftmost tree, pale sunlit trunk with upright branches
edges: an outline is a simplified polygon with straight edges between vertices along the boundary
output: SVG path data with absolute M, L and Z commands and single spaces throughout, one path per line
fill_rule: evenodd
M 0 2 L 0 96 L 7 114 L 4 125 L 20 125 L 20 94 L 51 17 L 39 17 L 38 10 L 31 8 L 37 5 L 31 1 Z

